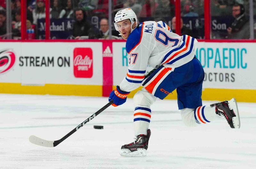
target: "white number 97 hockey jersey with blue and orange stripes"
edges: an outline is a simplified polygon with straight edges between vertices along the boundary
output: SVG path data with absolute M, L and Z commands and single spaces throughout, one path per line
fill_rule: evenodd
M 130 92 L 140 87 L 147 66 L 175 68 L 191 61 L 196 54 L 197 40 L 179 36 L 162 21 L 146 21 L 134 29 L 126 42 L 129 67 L 120 89 Z

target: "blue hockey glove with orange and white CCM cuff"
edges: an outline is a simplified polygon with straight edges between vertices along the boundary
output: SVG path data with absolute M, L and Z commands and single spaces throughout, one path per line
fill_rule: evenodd
M 130 92 L 124 92 L 119 88 L 119 86 L 116 86 L 116 89 L 110 93 L 108 101 L 110 102 L 111 100 L 113 100 L 114 103 L 112 104 L 112 106 L 116 107 L 124 104 L 129 94 Z

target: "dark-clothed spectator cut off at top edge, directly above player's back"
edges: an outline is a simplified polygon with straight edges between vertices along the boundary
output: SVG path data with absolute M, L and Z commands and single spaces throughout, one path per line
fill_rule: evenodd
M 160 0 L 158 1 L 159 5 L 156 8 L 154 17 L 171 17 L 174 16 L 174 11 L 171 10 L 170 0 Z

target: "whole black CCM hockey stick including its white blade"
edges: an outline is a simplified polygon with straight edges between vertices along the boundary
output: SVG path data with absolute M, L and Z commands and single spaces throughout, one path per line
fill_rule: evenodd
M 148 76 L 150 74 L 152 74 L 155 71 L 155 69 L 151 70 L 144 78 L 144 80 L 146 78 L 148 78 Z M 36 137 L 35 135 L 31 135 L 29 137 L 29 141 L 33 144 L 39 145 L 39 146 L 44 146 L 44 147 L 55 147 L 58 144 L 60 144 L 61 142 L 63 142 L 64 140 L 66 140 L 66 138 L 68 138 L 71 134 L 75 133 L 79 128 L 83 127 L 87 122 L 89 122 L 91 119 L 95 118 L 97 115 L 99 115 L 102 111 L 104 111 L 105 109 L 107 109 L 111 104 L 113 104 L 113 100 L 111 100 L 110 102 L 108 102 L 108 104 L 106 104 L 105 106 L 103 106 L 100 110 L 98 110 L 96 113 L 94 113 L 92 116 L 90 116 L 88 119 L 84 120 L 83 123 L 79 124 L 76 128 L 74 128 L 73 130 L 71 130 L 68 134 L 66 134 L 64 137 L 62 137 L 60 140 L 56 140 L 56 141 L 48 141 L 48 140 L 44 140 L 41 139 L 39 137 Z

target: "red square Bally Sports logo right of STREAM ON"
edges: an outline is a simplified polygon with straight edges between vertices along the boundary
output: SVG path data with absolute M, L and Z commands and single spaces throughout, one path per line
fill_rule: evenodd
M 77 78 L 91 78 L 93 73 L 92 49 L 74 49 L 74 75 Z

